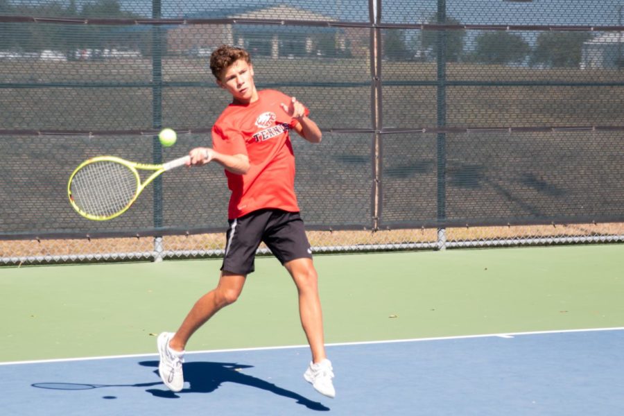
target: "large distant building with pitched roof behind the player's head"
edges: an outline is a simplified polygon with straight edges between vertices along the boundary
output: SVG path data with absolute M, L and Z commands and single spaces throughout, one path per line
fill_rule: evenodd
M 336 21 L 332 17 L 309 10 L 280 5 L 268 8 L 227 8 L 211 10 L 185 19 L 297 19 L 307 21 Z M 304 56 L 323 54 L 323 51 L 347 47 L 342 30 L 280 24 L 188 24 L 168 28 L 169 53 L 209 55 L 221 44 L 242 46 L 254 56 Z

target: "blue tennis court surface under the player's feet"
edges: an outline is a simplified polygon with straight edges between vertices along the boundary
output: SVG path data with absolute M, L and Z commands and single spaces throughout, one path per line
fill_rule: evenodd
M 624 328 L 329 345 L 336 399 L 302 378 L 306 347 L 195 352 L 184 390 L 157 356 L 0 365 L 6 415 L 618 415 Z

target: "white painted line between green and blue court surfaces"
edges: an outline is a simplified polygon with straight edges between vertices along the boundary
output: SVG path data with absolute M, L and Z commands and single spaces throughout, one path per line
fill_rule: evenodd
M 484 333 L 480 335 L 460 335 L 460 336 L 440 336 L 431 338 L 408 338 L 403 340 L 381 340 L 381 341 L 360 341 L 355 343 L 334 343 L 325 344 L 325 347 L 345 347 L 350 345 L 374 345 L 374 344 L 396 344 L 396 343 L 417 343 L 422 341 L 440 341 L 440 340 L 465 340 L 471 338 L 514 338 L 522 335 L 541 335 L 548 333 L 573 333 L 573 332 L 596 332 L 596 331 L 623 331 L 624 327 L 612 328 L 587 328 L 587 329 L 562 329 L 553 331 L 528 331 L 528 332 L 502 332 L 502 333 Z M 266 351 L 270 349 L 295 349 L 308 348 L 308 345 L 283 345 L 278 347 L 250 347 L 250 348 L 232 348 L 232 349 L 207 349 L 204 351 L 188 351 L 187 356 L 191 354 L 210 354 L 216 352 L 247 352 L 247 351 Z M 55 358 L 51 360 L 33 360 L 33 361 L 9 361 L 0 363 L 0 365 L 17 365 L 17 364 L 40 364 L 40 363 L 67 363 L 71 361 L 89 361 L 89 360 L 112 360 L 115 358 L 137 358 L 158 356 L 158 353 L 150 354 L 128 354 L 119 356 L 97 356 L 97 357 L 81 357 L 81 358 Z

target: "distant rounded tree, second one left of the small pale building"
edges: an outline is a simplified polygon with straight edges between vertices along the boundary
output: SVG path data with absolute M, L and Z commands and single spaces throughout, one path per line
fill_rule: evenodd
M 486 64 L 521 63 L 531 51 L 528 42 L 517 33 L 484 32 L 474 42 L 474 60 Z

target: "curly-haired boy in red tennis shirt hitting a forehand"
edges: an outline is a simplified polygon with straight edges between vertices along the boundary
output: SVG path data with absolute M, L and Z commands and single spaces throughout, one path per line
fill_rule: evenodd
M 225 256 L 216 288 L 196 302 L 177 332 L 158 336 L 160 376 L 171 390 L 182 390 L 184 347 L 214 313 L 239 297 L 263 241 L 297 286 L 301 323 L 312 353 L 304 379 L 318 392 L 334 397 L 318 276 L 295 196 L 295 156 L 289 137 L 295 130 L 307 141 L 318 143 L 320 129 L 295 97 L 256 89 L 254 68 L 244 49 L 220 46 L 211 55 L 210 69 L 216 83 L 232 94 L 232 103 L 212 128 L 213 147 L 194 148 L 189 155 L 191 166 L 217 162 L 225 168 L 232 191 Z

